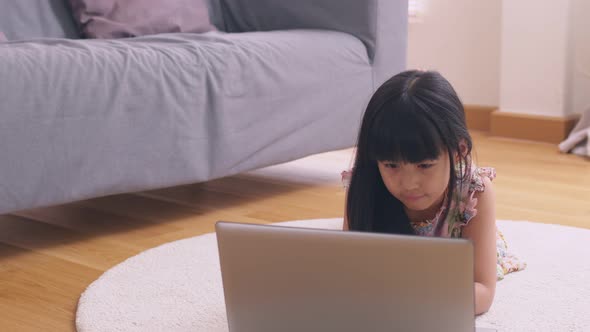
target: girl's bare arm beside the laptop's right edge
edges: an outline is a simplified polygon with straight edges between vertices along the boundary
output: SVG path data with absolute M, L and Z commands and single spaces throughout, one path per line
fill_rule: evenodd
M 483 178 L 485 190 L 475 193 L 477 214 L 463 229 L 471 239 L 475 255 L 475 314 L 490 309 L 496 292 L 496 198 L 492 182 Z

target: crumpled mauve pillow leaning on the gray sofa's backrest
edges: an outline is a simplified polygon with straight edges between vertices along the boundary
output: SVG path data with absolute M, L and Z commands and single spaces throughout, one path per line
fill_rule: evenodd
M 87 38 L 215 30 L 204 0 L 70 0 Z

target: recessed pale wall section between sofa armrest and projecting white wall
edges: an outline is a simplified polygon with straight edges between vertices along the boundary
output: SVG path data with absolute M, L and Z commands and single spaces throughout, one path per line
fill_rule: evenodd
M 440 71 L 465 104 L 498 106 L 502 2 L 422 1 L 409 25 L 408 68 Z

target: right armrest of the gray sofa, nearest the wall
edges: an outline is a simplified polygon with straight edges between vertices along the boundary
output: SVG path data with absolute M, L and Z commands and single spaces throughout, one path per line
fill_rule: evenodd
M 406 66 L 407 0 L 218 0 L 227 32 L 325 29 L 367 48 L 378 86 Z

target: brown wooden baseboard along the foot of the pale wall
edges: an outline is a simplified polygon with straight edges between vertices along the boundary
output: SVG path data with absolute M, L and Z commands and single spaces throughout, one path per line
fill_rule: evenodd
M 559 144 L 567 138 L 580 116 L 564 117 L 501 112 L 496 107 L 465 105 L 467 127 L 492 136 Z

